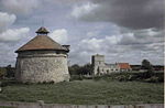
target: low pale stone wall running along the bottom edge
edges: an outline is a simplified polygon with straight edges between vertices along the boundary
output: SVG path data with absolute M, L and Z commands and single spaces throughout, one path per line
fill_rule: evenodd
M 59 105 L 44 102 L 12 102 L 0 101 L 0 106 L 14 108 L 164 108 L 164 104 L 141 104 L 141 105 Z

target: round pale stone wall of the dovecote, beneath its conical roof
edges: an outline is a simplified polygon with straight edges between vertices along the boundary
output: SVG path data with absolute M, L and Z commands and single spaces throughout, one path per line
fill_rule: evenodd
M 69 80 L 67 55 L 54 51 L 19 53 L 15 78 L 23 83 Z

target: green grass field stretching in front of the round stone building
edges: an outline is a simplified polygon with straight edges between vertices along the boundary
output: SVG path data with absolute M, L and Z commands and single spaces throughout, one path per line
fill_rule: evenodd
M 2 88 L 2 101 L 44 100 L 54 104 L 163 104 L 163 83 L 75 80 L 58 84 L 13 84 Z

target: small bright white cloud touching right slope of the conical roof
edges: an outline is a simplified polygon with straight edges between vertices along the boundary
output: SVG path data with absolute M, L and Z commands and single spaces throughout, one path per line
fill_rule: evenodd
M 56 42 L 58 42 L 58 43 L 61 43 L 61 44 L 66 44 L 68 33 L 67 33 L 67 30 L 65 30 L 65 29 L 58 29 L 58 30 L 54 30 L 54 31 L 50 34 L 50 36 L 51 36 L 54 41 L 56 41 Z

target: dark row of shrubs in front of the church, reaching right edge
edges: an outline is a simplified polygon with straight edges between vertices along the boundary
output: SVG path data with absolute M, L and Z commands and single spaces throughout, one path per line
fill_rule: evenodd
M 95 80 L 119 80 L 119 82 L 132 82 L 132 80 L 139 80 L 139 82 L 147 82 L 147 83 L 163 83 L 164 82 L 164 75 L 163 73 L 150 73 L 150 72 L 143 72 L 143 73 L 111 73 L 110 75 L 102 75 L 102 76 L 95 76 Z

